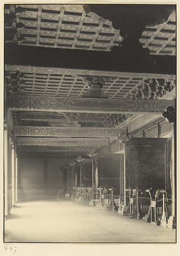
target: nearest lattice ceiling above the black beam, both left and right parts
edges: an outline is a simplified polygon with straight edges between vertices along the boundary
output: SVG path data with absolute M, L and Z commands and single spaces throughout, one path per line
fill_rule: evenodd
M 20 45 L 110 51 L 123 41 L 119 30 L 87 16 L 83 5 L 20 6 L 26 10 L 17 15 L 17 23 L 26 25 L 18 29 L 25 38 L 18 42 Z M 163 24 L 146 26 L 140 42 L 150 49 L 150 54 L 175 55 L 175 14 L 172 13 Z

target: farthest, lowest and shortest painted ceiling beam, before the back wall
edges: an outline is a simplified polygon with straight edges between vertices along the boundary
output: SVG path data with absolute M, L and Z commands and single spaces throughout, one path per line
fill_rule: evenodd
M 17 151 L 23 152 L 89 152 L 96 151 L 96 146 L 34 146 L 19 145 Z

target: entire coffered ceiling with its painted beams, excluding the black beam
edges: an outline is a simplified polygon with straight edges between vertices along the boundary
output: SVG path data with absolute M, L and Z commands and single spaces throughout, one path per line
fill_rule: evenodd
M 17 29 L 13 41 L 18 47 L 65 48 L 74 49 L 73 52 L 82 49 L 109 54 L 124 39 L 111 22 L 105 23 L 100 17 L 86 15 L 83 5 L 18 6 L 24 12 L 16 14 L 11 28 Z M 18 27 L 18 23 L 23 23 L 23 27 Z M 18 40 L 20 36 L 23 38 L 21 41 Z M 176 55 L 175 14 L 172 13 L 165 23 L 146 26 L 140 43 L 149 48 L 151 58 L 153 55 Z M 60 56 L 66 56 L 66 53 Z M 86 62 L 91 59 L 90 55 L 91 52 L 83 57 Z M 76 60 L 77 52 L 74 56 Z M 74 65 L 74 59 L 70 65 L 73 67 L 68 68 L 63 59 L 59 68 L 49 66 L 44 55 L 43 65 L 35 67 L 19 63 L 27 56 L 17 55 L 17 63 L 11 64 L 11 59 L 6 63 L 5 55 L 7 116 L 11 120 L 11 133 L 21 156 L 87 157 L 88 151 L 107 147 L 120 132 L 127 133 L 126 127 L 120 128 L 120 125 L 135 113 L 160 115 L 168 106 L 164 97 L 175 91 L 176 77 L 173 72 L 163 73 L 161 70 L 159 75 L 158 72 L 148 73 L 148 70 L 147 73 L 142 70 L 134 72 L 129 68 L 123 73 L 120 66 L 123 65 L 123 57 L 120 57 L 121 64 L 118 64 L 119 57 L 116 56 L 114 66 L 117 70 L 113 70 L 111 63 L 115 57 L 111 56 L 111 62 L 106 62 L 107 66 L 110 63 L 107 69 L 103 64 L 106 57 L 98 56 L 99 64 L 94 63 L 95 57 L 91 61 L 93 70 L 86 67 L 83 70 Z M 72 53 L 66 58 L 67 63 L 71 57 Z M 83 61 L 80 62 L 83 65 Z M 138 63 L 134 63 L 136 68 Z M 161 63 L 157 64 L 158 70 Z M 166 64 L 172 66 L 170 62 Z M 99 65 L 99 70 L 94 68 L 95 65 Z M 91 94 L 92 90 L 94 94 Z M 93 98 L 91 95 L 97 91 L 100 97 Z M 170 103 L 173 105 L 174 101 Z

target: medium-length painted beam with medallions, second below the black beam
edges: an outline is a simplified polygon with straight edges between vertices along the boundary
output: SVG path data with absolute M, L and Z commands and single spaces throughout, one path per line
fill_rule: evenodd
M 37 137 L 117 137 L 126 128 L 86 128 L 86 127 L 41 127 L 15 126 L 15 136 Z

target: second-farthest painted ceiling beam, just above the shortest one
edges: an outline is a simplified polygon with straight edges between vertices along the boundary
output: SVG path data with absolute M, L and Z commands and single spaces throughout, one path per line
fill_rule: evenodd
M 109 138 L 41 138 L 17 137 L 16 145 L 43 146 L 108 146 Z

